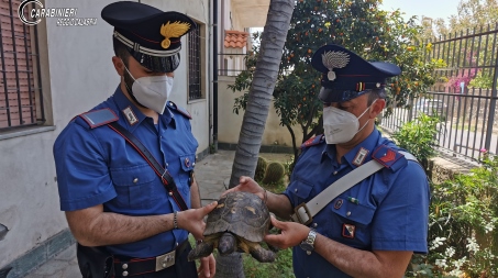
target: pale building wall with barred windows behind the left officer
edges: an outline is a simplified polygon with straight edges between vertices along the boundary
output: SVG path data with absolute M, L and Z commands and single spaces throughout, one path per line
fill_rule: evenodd
M 38 24 L 47 121 L 42 127 L 0 133 L 0 223 L 9 229 L 0 241 L 0 268 L 67 230 L 59 210 L 52 147 L 71 118 L 106 100 L 119 85 L 120 77 L 111 63 L 112 26 L 100 18 L 102 8 L 110 2 L 113 1 L 44 1 L 45 8 L 77 8 L 77 18 L 97 18 L 97 25 L 57 26 L 54 18 Z M 191 15 L 206 24 L 202 40 L 209 40 L 208 0 L 142 2 Z M 209 147 L 209 63 L 202 64 L 206 98 L 188 102 L 186 45 L 184 37 L 180 53 L 184 60 L 175 73 L 171 100 L 192 114 L 198 152 L 202 152 Z M 204 57 L 209 57 L 209 47 L 204 45 Z

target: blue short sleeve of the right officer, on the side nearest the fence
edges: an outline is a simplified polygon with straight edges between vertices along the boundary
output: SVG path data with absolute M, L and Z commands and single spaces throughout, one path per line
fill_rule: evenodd
M 372 226 L 372 249 L 428 252 L 430 188 L 416 162 L 397 173 Z

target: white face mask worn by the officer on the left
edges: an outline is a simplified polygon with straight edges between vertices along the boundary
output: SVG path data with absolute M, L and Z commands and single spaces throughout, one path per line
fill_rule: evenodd
M 170 76 L 145 76 L 135 79 L 130 70 L 124 67 L 128 74 L 135 80 L 132 86 L 133 96 L 140 104 L 163 114 L 166 102 L 173 89 L 173 77 Z

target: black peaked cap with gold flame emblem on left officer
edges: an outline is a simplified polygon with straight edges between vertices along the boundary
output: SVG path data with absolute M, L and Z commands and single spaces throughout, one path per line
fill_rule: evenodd
M 144 67 L 171 73 L 180 63 L 181 36 L 197 27 L 180 12 L 164 12 L 154 7 L 120 1 L 103 8 L 101 16 L 114 26 L 113 36 Z

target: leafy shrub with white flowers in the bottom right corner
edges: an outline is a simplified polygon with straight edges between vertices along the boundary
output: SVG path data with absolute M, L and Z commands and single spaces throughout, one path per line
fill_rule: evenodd
M 486 155 L 469 174 L 433 185 L 429 224 L 434 271 L 465 277 L 498 276 L 498 158 Z

